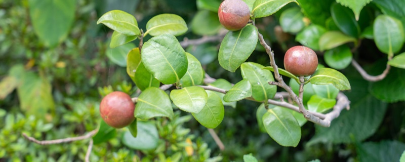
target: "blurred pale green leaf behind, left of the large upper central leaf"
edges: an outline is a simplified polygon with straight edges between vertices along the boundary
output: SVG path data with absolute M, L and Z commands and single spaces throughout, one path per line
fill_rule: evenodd
M 134 44 L 125 44 L 123 46 L 119 46 L 113 49 L 107 48 L 105 53 L 108 59 L 110 59 L 113 63 L 121 67 L 126 67 L 128 51 L 131 51 L 134 48 L 135 48 Z

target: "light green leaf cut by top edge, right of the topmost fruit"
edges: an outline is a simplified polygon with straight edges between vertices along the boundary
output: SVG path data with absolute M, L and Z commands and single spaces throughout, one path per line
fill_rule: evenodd
M 253 17 L 261 18 L 273 15 L 291 2 L 297 3 L 295 0 L 256 0 L 252 8 Z

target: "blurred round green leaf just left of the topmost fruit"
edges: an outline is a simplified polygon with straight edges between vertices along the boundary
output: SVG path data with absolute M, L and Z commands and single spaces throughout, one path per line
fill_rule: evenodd
M 191 21 L 191 31 L 198 35 L 215 35 L 221 28 L 218 14 L 208 10 L 198 11 Z

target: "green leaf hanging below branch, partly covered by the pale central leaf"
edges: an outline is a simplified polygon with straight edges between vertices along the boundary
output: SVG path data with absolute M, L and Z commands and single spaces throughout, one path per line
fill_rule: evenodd
M 208 95 L 207 104 L 199 113 L 191 113 L 194 118 L 207 128 L 217 128 L 224 119 L 224 105 L 221 98 L 212 91 L 206 91 Z

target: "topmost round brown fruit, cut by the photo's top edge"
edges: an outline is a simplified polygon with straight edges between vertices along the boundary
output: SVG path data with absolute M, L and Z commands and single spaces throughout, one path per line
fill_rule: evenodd
M 240 30 L 250 19 L 249 6 L 242 0 L 225 0 L 218 8 L 218 17 L 226 29 Z

